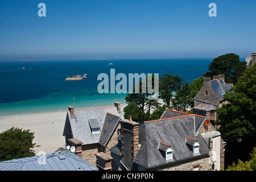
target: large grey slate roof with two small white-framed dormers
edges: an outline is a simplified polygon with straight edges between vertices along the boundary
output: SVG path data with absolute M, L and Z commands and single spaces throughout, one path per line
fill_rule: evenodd
M 141 147 L 133 162 L 146 168 L 153 168 L 209 155 L 209 149 L 204 140 L 199 134 L 195 135 L 195 132 L 199 130 L 204 120 L 205 117 L 189 114 L 142 123 L 139 126 L 139 143 Z M 197 140 L 197 143 L 200 144 L 199 155 L 194 156 L 192 154 L 187 144 L 185 144 L 185 137 Z M 170 144 L 174 160 L 167 162 L 163 158 L 158 150 L 159 142 Z

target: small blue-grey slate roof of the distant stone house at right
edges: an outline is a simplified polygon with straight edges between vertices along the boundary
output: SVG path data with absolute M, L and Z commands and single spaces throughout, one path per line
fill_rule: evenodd
M 220 84 L 220 82 L 218 82 L 218 80 L 216 79 L 210 81 L 210 87 L 212 87 L 219 100 L 223 99 L 223 95 L 225 94 L 225 92 L 229 90 L 232 86 L 233 84 Z

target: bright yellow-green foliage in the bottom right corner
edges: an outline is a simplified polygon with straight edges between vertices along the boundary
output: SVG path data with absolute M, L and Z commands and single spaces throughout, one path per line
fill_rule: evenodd
M 232 166 L 228 166 L 226 171 L 256 171 L 256 147 L 253 148 L 251 159 L 246 162 L 238 159 L 237 164 L 233 162 Z

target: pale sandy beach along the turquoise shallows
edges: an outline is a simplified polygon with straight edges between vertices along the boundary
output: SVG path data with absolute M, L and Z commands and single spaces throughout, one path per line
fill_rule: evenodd
M 121 104 L 121 109 L 125 106 L 126 104 Z M 62 134 L 66 115 L 67 110 L 0 115 L 0 133 L 11 129 L 11 127 L 18 127 L 23 130 L 30 129 L 30 132 L 34 132 L 33 142 L 40 145 L 40 147 L 33 149 L 35 154 L 38 155 L 39 151 L 50 154 L 59 147 L 65 148 L 65 138 Z

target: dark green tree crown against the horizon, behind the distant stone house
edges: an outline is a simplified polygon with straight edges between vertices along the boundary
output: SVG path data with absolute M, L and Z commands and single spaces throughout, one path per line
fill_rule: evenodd
M 241 62 L 239 56 L 234 53 L 227 53 L 214 58 L 208 69 L 209 72 L 206 72 L 205 77 L 224 74 L 225 82 L 237 84 L 237 78 L 246 69 L 246 62 Z

